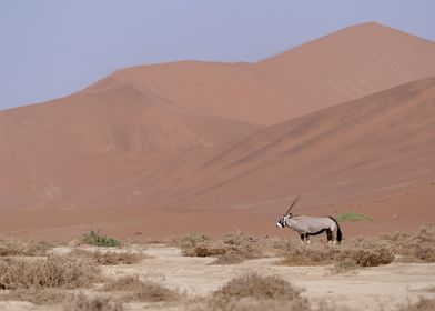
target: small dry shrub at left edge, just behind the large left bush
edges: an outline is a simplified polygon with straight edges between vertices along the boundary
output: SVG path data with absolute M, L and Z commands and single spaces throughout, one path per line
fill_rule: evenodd
M 19 240 L 11 237 L 3 237 L 0 239 L 0 257 L 42 257 L 54 247 L 55 243 L 53 242 L 39 240 Z

